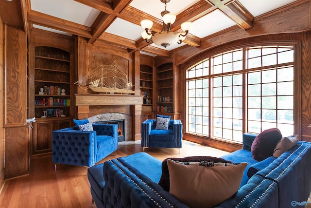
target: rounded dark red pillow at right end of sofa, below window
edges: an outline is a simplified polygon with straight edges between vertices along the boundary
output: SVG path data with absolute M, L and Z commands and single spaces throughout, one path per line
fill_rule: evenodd
M 277 128 L 267 129 L 259 133 L 251 147 L 253 158 L 261 161 L 273 156 L 276 144 L 281 138 L 282 133 Z

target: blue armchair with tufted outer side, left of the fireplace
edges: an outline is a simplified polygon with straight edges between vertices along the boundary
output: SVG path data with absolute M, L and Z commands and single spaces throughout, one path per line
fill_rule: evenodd
M 52 132 L 52 162 L 91 167 L 118 149 L 118 124 L 93 123 L 94 131 L 75 127 Z

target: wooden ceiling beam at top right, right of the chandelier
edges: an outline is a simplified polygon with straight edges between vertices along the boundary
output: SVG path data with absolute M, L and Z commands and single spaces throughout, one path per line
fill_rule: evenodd
M 252 28 L 254 16 L 238 0 L 206 0 L 217 7 L 242 29 Z

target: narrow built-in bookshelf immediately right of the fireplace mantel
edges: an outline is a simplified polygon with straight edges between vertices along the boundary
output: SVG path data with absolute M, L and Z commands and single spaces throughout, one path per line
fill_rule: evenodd
M 147 65 L 140 65 L 140 95 L 142 112 L 153 112 L 153 68 Z

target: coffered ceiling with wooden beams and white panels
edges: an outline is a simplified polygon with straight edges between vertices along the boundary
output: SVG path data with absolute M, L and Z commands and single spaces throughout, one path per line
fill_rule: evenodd
M 0 0 L 2 5 L 14 1 L 19 0 Z M 29 30 L 39 28 L 66 36 L 78 35 L 87 38 L 89 43 L 104 41 L 129 51 L 139 50 L 157 56 L 186 44 L 199 47 L 201 38 L 231 26 L 238 25 L 247 30 L 256 17 L 294 1 L 171 0 L 167 10 L 177 16 L 171 31 L 180 32 L 184 21 L 192 21 L 193 27 L 182 44 L 167 48 L 146 43 L 140 36 L 142 19 L 154 22 L 153 31 L 161 30 L 160 13 L 164 3 L 160 0 L 20 0 L 20 10 L 23 11 L 23 24 Z M 3 17 L 5 11 L 0 12 Z

